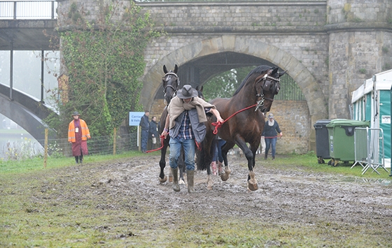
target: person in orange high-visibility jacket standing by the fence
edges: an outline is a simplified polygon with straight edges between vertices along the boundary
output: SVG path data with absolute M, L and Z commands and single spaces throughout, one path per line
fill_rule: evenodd
M 72 144 L 72 156 L 75 156 L 76 163 L 83 163 L 83 155 L 88 154 L 87 138 L 91 137 L 87 124 L 79 116 L 77 111 L 72 114 L 73 120 L 68 125 L 68 142 Z

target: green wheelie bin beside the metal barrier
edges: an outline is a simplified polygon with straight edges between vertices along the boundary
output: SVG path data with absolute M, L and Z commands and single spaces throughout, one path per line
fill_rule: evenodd
M 332 166 L 337 166 L 339 161 L 344 163 L 355 161 L 354 130 L 356 127 L 365 128 L 369 126 L 369 121 L 353 119 L 332 119 L 327 124 Z

